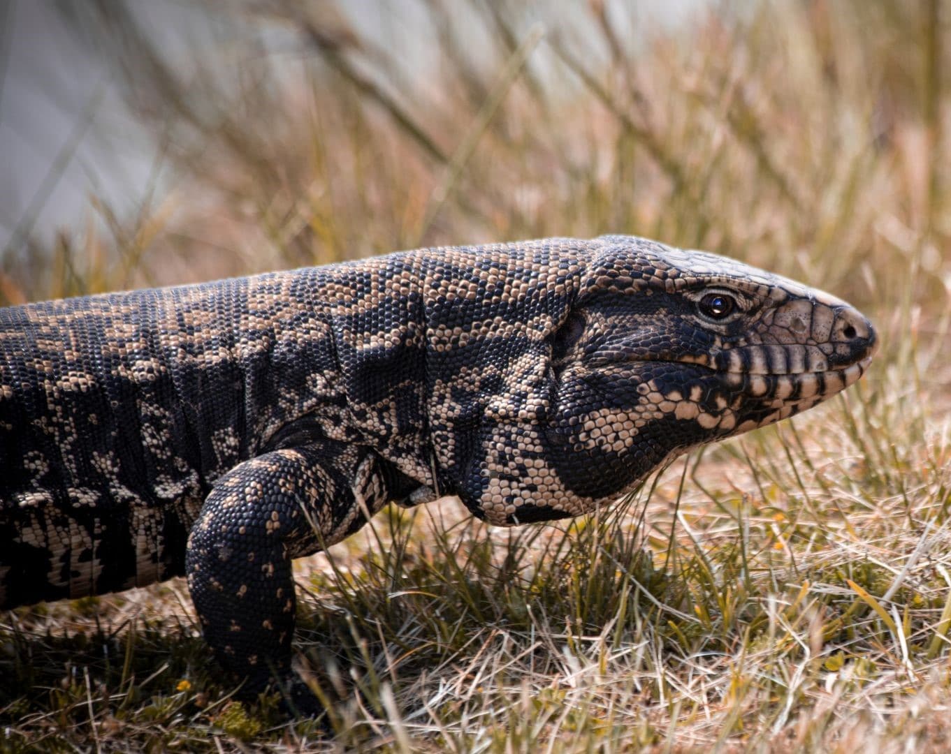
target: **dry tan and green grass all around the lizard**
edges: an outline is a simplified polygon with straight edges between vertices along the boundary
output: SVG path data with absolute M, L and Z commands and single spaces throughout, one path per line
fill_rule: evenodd
M 192 34 L 58 6 L 157 157 L 134 212 L 93 191 L 55 234 L 21 216 L 0 304 L 631 233 L 835 292 L 882 349 L 616 514 L 393 510 L 302 563 L 336 743 L 231 703 L 170 582 L 0 619 L 0 748 L 951 745 L 951 9 L 650 6 L 203 0 Z

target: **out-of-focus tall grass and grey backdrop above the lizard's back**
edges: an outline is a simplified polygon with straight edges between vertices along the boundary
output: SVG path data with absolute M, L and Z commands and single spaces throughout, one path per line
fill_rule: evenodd
M 941 0 L 6 0 L 0 22 L 0 303 L 602 233 L 873 311 L 948 285 Z

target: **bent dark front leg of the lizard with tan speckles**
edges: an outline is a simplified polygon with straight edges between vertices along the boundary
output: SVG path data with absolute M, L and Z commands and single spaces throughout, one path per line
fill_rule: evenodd
M 359 528 L 368 509 L 357 496 L 364 497 L 368 485 L 383 497 L 374 458 L 361 462 L 354 448 L 334 445 L 276 450 L 235 466 L 205 500 L 186 556 L 205 640 L 235 681 L 244 681 L 243 696 L 253 697 L 276 678 L 291 689 L 292 702 L 311 713 L 320 707 L 301 694 L 290 668 L 291 560 Z M 378 501 L 367 502 L 375 512 Z

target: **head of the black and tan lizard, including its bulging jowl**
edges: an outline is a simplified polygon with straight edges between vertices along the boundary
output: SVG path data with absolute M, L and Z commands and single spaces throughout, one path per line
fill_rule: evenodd
M 692 447 L 839 393 L 876 349 L 864 315 L 825 292 L 715 254 L 600 241 L 548 339 L 550 392 L 537 415 L 544 463 L 527 464 L 514 506 L 503 496 L 504 509 L 484 508 L 495 522 L 615 500 Z

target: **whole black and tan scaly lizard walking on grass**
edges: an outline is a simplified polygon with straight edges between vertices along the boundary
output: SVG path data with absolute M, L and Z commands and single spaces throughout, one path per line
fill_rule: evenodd
M 631 236 L 2 309 L 0 608 L 187 575 L 253 694 L 290 677 L 291 560 L 387 501 L 587 513 L 874 346 L 824 292 Z

